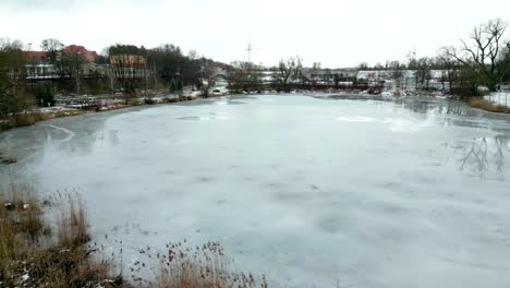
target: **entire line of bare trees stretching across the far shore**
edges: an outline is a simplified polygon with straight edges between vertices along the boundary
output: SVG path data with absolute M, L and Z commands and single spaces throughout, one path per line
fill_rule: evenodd
M 359 70 L 388 71 L 397 86 L 405 88 L 408 71 L 413 71 L 414 86 L 429 89 L 433 71 L 441 72 L 441 83 L 457 95 L 479 95 L 478 87 L 496 91 L 510 82 L 510 39 L 508 24 L 500 19 L 474 27 L 458 46 L 446 46 L 435 57 L 416 59 L 411 55 L 404 62 L 387 61 L 369 67 L 361 63 Z M 282 59 L 265 69 L 252 62 L 230 64 L 198 57 L 195 51 L 183 53 L 179 46 L 163 44 L 145 48 L 116 44 L 97 55 L 90 63 L 80 50 L 65 47 L 58 39 L 41 41 L 42 76 L 31 76 L 31 68 L 40 59 L 33 59 L 20 40 L 0 38 L 0 116 L 12 115 L 27 108 L 51 106 L 56 94 L 114 94 L 150 95 L 157 91 L 180 92 L 193 86 L 207 95 L 215 70 L 226 73 L 229 88 L 234 92 L 263 89 L 265 77 L 271 79 L 271 88 L 291 91 L 305 84 L 303 59 Z M 29 49 L 28 49 L 29 50 Z M 263 74 L 270 72 L 270 75 Z M 309 81 L 309 80 L 307 80 Z M 335 75 L 335 83 L 341 81 Z M 267 86 L 267 85 L 266 85 Z

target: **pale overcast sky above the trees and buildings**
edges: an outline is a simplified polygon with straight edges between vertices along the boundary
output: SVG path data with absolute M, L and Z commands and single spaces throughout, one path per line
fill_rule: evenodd
M 404 60 L 414 48 L 434 56 L 509 11 L 510 0 L 0 0 L 0 37 L 98 52 L 171 43 L 223 62 L 246 60 L 251 39 L 257 63 L 299 55 L 337 68 Z

